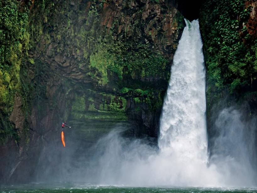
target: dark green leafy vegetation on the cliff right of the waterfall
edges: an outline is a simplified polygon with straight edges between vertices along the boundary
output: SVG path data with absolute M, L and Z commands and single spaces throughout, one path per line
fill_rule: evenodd
M 249 45 L 243 41 L 250 38 L 245 22 L 251 9 L 246 5 L 246 0 L 206 0 L 202 6 L 200 26 L 204 40 L 209 107 L 226 90 L 232 95 L 254 91 L 257 42 Z

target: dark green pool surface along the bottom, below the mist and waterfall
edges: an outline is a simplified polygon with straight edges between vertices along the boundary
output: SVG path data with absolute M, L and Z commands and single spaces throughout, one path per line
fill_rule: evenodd
M 202 187 L 125 187 L 125 186 L 100 186 L 100 185 L 74 185 L 74 184 L 23 184 L 23 185 L 6 185 L 0 187 L 1 193 L 20 193 L 20 192 L 40 192 L 40 193 L 53 193 L 53 192 L 161 192 L 161 193 L 207 193 L 207 192 L 257 192 L 257 188 L 202 188 Z

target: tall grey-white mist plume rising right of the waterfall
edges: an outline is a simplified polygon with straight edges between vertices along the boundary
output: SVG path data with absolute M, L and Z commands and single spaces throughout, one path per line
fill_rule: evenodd
M 233 108 L 223 109 L 213 128 L 216 135 L 211 139 L 210 162 L 234 186 L 256 186 L 256 119 L 244 119 L 243 114 Z

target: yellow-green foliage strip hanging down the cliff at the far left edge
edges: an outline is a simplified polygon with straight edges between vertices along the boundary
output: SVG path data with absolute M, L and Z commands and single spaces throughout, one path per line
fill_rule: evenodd
M 30 35 L 28 28 L 29 9 L 21 1 L 1 1 L 0 5 L 0 143 L 12 136 L 19 136 L 8 120 L 13 110 L 15 95 L 22 95 L 24 82 L 20 73 L 23 58 L 27 56 Z M 26 101 L 26 96 L 22 99 Z M 23 105 L 24 107 L 27 105 Z M 25 115 L 26 116 L 26 115 Z

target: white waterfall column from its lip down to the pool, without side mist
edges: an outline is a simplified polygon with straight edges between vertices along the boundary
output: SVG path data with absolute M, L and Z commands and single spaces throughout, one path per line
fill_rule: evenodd
M 161 159 L 170 162 L 172 179 L 178 185 L 217 185 L 219 174 L 207 167 L 205 66 L 198 20 L 186 20 L 174 55 L 164 100 L 159 148 Z M 212 176 L 210 176 L 210 174 Z

